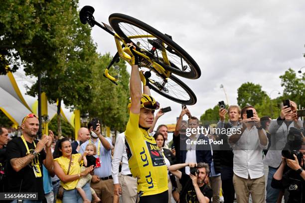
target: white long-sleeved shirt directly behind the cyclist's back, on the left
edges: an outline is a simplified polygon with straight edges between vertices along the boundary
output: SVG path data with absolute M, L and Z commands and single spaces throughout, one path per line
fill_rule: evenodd
M 125 146 L 125 132 L 117 135 L 116 144 L 114 148 L 113 158 L 112 158 L 112 178 L 113 184 L 119 184 L 119 167 L 122 161 L 122 175 L 131 174 L 128 165 L 126 146 Z

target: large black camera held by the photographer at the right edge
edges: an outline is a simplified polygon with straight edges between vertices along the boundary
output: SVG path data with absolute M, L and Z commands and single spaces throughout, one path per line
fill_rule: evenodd
M 299 151 L 302 147 L 303 137 L 301 130 L 291 127 L 287 136 L 287 143 L 282 150 L 282 156 L 287 159 L 295 160 L 294 155 L 297 156 L 299 163 L 303 158 L 302 153 Z

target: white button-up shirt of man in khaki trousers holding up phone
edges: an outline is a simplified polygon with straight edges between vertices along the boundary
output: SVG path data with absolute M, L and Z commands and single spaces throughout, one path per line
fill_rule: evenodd
M 266 131 L 263 129 L 267 138 Z M 253 126 L 250 130 L 245 129 L 240 139 L 231 144 L 233 148 L 233 172 L 235 175 L 248 179 L 256 179 L 264 176 L 264 164 L 263 164 L 263 149 L 267 149 L 266 146 L 261 145 L 259 141 L 258 129 Z

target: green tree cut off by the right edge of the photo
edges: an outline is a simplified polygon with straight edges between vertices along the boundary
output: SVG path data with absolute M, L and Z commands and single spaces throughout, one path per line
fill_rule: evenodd
M 297 77 L 296 72 L 290 68 L 280 79 L 281 86 L 284 87 L 282 99 L 292 100 L 305 107 L 305 73 Z

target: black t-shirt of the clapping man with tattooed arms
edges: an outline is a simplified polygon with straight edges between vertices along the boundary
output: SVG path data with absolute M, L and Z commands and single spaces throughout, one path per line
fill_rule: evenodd
M 38 140 L 34 140 L 37 144 Z M 34 143 L 26 142 L 28 149 L 35 149 Z M 8 142 L 6 147 L 6 156 L 7 156 L 7 179 L 8 181 L 8 191 L 9 192 L 21 192 L 21 193 L 38 193 L 38 200 L 43 200 L 44 191 L 43 191 L 43 180 L 42 176 L 39 178 L 35 177 L 34 171 L 31 167 L 32 163 L 22 168 L 19 172 L 13 170 L 10 165 L 10 160 L 13 158 L 21 158 L 27 155 L 26 147 L 21 139 L 17 137 Z M 37 158 L 38 157 L 38 158 Z M 42 150 L 39 155 L 37 155 L 33 161 L 37 162 L 39 160 L 40 171 L 42 174 L 42 161 L 45 159 L 45 151 Z M 21 185 L 22 181 L 22 185 Z M 20 187 L 21 186 L 21 187 Z

